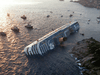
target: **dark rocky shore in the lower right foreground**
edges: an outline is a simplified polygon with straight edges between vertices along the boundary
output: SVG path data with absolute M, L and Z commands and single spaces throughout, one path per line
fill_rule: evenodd
M 93 38 L 83 39 L 70 53 L 77 58 L 78 66 L 85 68 L 83 75 L 100 75 L 100 42 Z

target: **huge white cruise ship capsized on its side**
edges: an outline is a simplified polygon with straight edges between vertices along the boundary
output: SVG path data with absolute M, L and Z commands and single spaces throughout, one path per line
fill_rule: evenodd
M 67 38 L 70 34 L 77 32 L 79 28 L 79 23 L 76 21 L 69 25 L 65 24 L 26 46 L 24 52 L 27 55 L 43 55 L 60 45 L 60 39 Z

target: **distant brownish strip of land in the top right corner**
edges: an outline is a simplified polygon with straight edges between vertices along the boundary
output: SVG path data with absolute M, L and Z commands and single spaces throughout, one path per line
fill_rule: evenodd
M 78 2 L 86 7 L 94 7 L 100 9 L 100 0 L 79 0 Z

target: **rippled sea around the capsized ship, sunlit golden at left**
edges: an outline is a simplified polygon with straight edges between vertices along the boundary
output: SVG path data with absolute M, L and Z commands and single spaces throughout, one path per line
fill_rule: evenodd
M 30 4 L 5 5 L 0 8 L 0 31 L 7 34 L 6 37 L 0 36 L 1 75 L 79 75 L 80 71 L 68 50 L 85 38 L 93 37 L 100 41 L 100 24 L 96 21 L 100 10 L 95 8 L 87 8 L 69 0 L 35 0 Z M 10 17 L 7 13 L 10 13 Z M 70 18 L 70 14 L 73 17 Z M 26 15 L 27 20 L 22 20 L 22 15 Z M 47 18 L 47 15 L 50 17 Z M 88 19 L 91 19 L 90 22 Z M 66 47 L 57 47 L 39 58 L 25 56 L 25 46 L 70 21 L 78 21 L 80 30 L 68 38 Z M 24 27 L 28 23 L 34 27 L 33 30 Z M 19 27 L 19 33 L 11 30 L 14 25 Z M 81 36 L 80 33 L 85 35 Z

